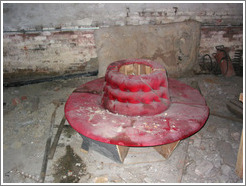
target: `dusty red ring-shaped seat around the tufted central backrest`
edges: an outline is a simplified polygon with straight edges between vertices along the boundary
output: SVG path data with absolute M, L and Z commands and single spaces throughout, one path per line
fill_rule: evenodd
M 206 123 L 209 108 L 200 92 L 180 81 L 168 79 L 170 107 L 153 116 L 113 114 L 101 105 L 105 79 L 75 89 L 65 105 L 68 123 L 80 134 L 122 146 L 156 146 L 191 136 Z

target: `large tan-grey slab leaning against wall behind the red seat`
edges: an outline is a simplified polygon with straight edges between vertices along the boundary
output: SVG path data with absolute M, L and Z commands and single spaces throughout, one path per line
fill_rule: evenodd
M 115 26 L 95 31 L 99 77 L 117 60 L 142 58 L 163 64 L 171 77 L 193 72 L 200 45 L 200 23 Z

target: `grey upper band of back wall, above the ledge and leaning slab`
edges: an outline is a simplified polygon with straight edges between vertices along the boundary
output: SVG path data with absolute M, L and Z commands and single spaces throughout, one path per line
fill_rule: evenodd
M 235 3 L 6 3 L 3 28 L 158 24 L 185 19 L 204 25 L 240 25 L 242 16 L 243 4 Z

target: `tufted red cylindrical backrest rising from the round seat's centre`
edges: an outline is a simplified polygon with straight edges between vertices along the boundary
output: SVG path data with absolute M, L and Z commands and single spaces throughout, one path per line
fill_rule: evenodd
M 135 65 L 138 74 L 120 72 L 124 65 Z M 140 67 L 148 68 L 140 73 Z M 113 113 L 128 116 L 148 116 L 164 112 L 170 105 L 165 68 L 145 59 L 121 60 L 111 63 L 105 74 L 106 84 L 102 105 Z

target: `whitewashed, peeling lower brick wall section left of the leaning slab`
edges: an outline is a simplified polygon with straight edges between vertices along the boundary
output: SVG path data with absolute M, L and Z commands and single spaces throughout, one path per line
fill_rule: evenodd
M 4 34 L 6 78 L 97 70 L 93 30 Z

